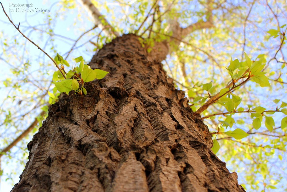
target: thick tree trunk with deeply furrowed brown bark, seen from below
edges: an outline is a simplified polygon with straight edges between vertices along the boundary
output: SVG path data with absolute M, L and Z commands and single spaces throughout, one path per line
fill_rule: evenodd
M 65 96 L 28 144 L 13 192 L 245 191 L 211 150 L 211 134 L 183 91 L 133 34 L 105 45 L 91 68 L 110 73 Z

